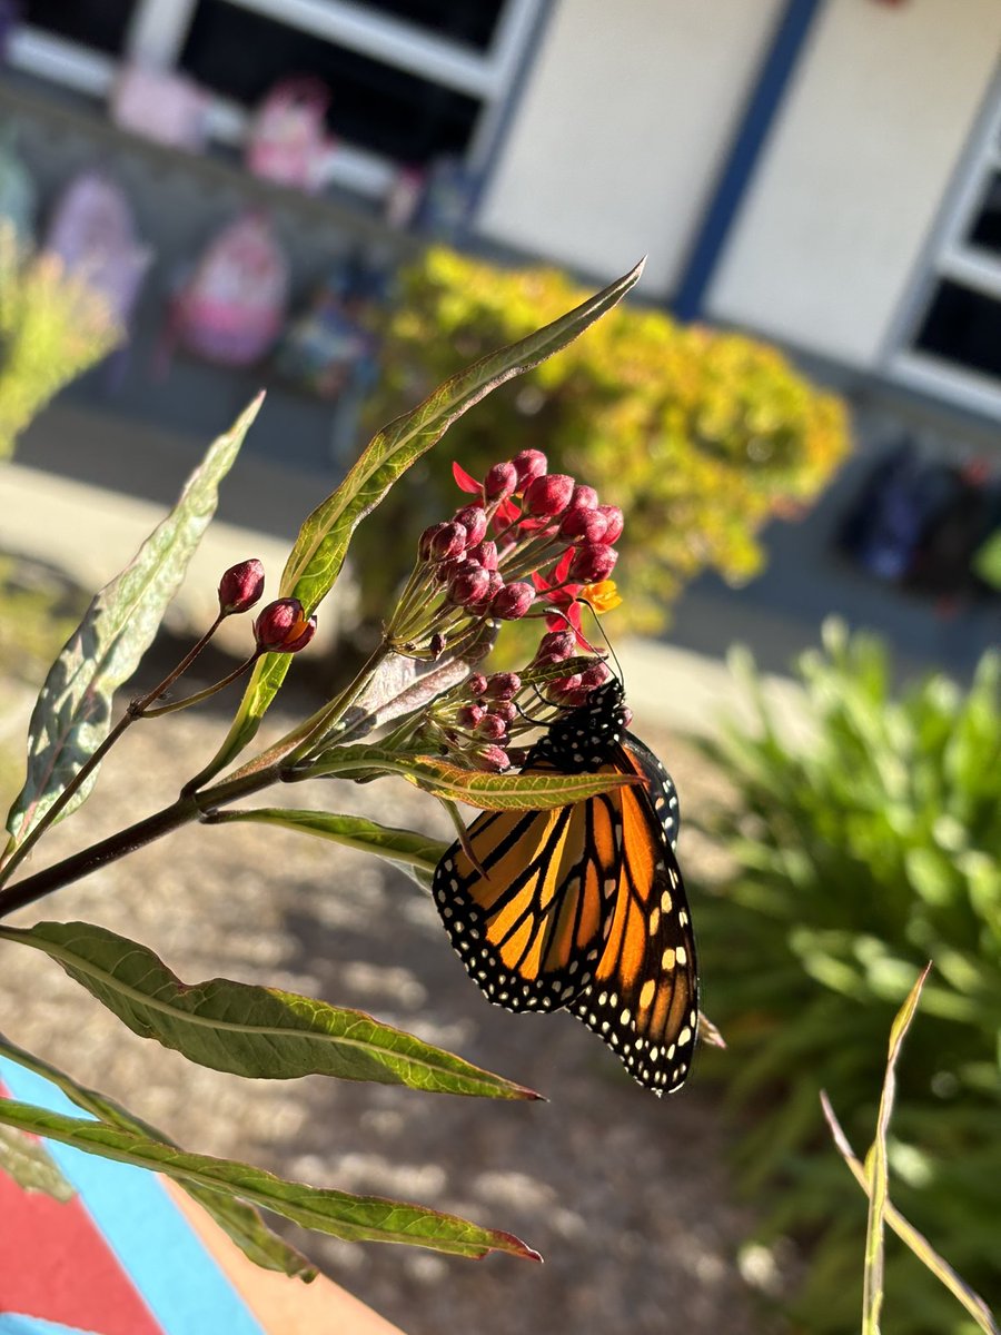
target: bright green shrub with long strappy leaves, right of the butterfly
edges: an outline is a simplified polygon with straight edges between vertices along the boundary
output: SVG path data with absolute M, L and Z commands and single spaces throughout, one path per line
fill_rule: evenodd
M 737 801 L 702 825 L 731 860 L 698 917 L 730 1103 L 753 1109 L 742 1183 L 770 1196 L 766 1232 L 810 1244 L 806 1328 L 852 1331 L 865 1203 L 818 1091 L 865 1153 L 885 1033 L 928 960 L 898 1069 L 892 1193 L 968 1283 L 1000 1296 L 1001 658 L 985 655 L 966 693 L 932 677 L 896 698 L 876 639 L 829 623 L 825 647 L 801 661 L 807 742 L 778 734 L 749 670 L 758 732 L 705 744 Z M 894 1331 L 970 1328 L 913 1256 L 888 1251 Z

